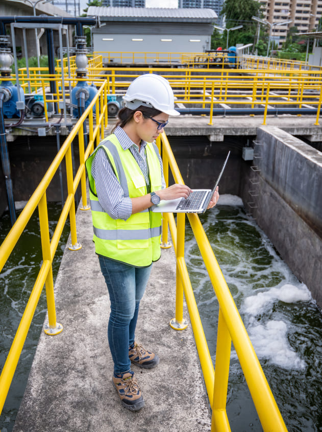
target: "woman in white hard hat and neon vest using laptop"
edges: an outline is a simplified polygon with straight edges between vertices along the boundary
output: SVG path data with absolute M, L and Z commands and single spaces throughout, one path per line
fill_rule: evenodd
M 108 341 L 112 377 L 123 406 L 138 411 L 144 400 L 131 362 L 154 368 L 159 357 L 135 342 L 135 327 L 152 262 L 161 256 L 161 214 L 150 211 L 160 200 L 187 198 L 183 184 L 165 187 L 162 161 L 154 140 L 174 109 L 166 79 L 145 74 L 128 88 L 119 122 L 86 161 L 90 185 L 95 251 L 111 302 Z M 208 208 L 219 198 L 216 190 Z

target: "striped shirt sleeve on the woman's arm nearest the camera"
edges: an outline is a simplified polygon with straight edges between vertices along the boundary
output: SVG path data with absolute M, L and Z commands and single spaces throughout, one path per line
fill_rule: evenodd
M 132 201 L 124 197 L 124 191 L 115 176 L 104 149 L 98 149 L 92 164 L 92 176 L 98 202 L 113 219 L 126 221 L 132 214 Z

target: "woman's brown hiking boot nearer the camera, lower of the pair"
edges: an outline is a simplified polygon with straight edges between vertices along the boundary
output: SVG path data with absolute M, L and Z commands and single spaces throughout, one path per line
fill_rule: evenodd
M 130 411 L 139 411 L 144 406 L 144 400 L 133 374 L 133 372 L 126 372 L 120 377 L 113 375 L 112 380 L 122 405 Z

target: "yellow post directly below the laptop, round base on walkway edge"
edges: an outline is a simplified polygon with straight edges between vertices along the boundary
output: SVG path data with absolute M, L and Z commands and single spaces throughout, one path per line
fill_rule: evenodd
M 177 214 L 177 261 L 184 259 L 185 220 L 185 213 Z M 175 330 L 184 330 L 188 327 L 188 322 L 183 318 L 183 285 L 178 262 L 176 283 L 176 317 L 172 318 L 170 326 Z

